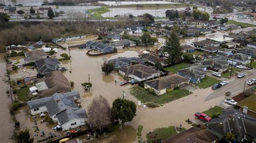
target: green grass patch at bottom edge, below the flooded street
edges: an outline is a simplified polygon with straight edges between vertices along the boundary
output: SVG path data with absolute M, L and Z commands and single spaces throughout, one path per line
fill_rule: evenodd
M 155 142 L 157 139 L 164 141 L 176 134 L 174 126 L 156 128 L 153 132 L 147 133 L 147 142 Z

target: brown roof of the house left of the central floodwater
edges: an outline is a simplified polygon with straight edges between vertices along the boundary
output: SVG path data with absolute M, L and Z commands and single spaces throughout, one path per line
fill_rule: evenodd
M 70 82 L 61 71 L 45 73 L 45 78 L 38 78 L 35 83 L 45 82 L 48 89 L 39 91 L 40 95 L 54 94 L 56 92 L 71 90 Z

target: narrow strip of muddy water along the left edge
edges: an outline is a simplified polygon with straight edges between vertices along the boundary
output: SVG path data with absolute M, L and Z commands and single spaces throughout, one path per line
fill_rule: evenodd
M 11 99 L 5 94 L 5 91 L 9 90 L 9 85 L 6 82 L 8 78 L 5 76 L 6 68 L 3 54 L 0 54 L 0 67 L 0 142 L 14 142 L 10 139 L 12 131 L 14 130 L 14 123 L 8 109 L 8 105 L 11 103 Z

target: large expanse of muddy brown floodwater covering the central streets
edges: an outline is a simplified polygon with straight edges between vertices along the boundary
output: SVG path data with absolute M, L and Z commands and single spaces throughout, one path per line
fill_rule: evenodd
M 134 51 L 131 51 L 134 50 Z M 101 66 L 107 59 L 117 58 L 119 56 L 138 56 L 143 48 L 130 48 L 123 51 L 118 51 L 115 54 L 109 54 L 99 57 L 90 57 L 86 55 L 85 49 L 71 49 L 71 61 L 62 61 L 64 67 L 69 70 L 64 73 L 69 81 L 75 82 L 74 90 L 78 90 L 82 97 L 81 102 L 83 108 L 87 109 L 92 99 L 98 95 L 103 95 L 110 104 L 117 97 L 122 97 L 122 92 L 126 92 L 126 99 L 130 99 L 134 102 L 138 102 L 136 98 L 130 95 L 129 88 L 131 85 L 125 85 L 120 87 L 119 83 L 123 81 L 116 73 L 105 75 L 102 73 Z M 68 52 L 68 51 L 63 51 Z M 70 73 L 71 71 L 71 73 Z M 92 83 L 90 92 L 84 91 L 81 83 L 89 81 Z M 117 84 L 114 81 L 117 81 Z M 220 98 L 213 99 L 204 103 L 205 97 L 212 92 L 212 90 L 204 89 L 193 91 L 194 94 L 178 99 L 177 101 L 165 104 L 160 108 L 141 108 L 137 107 L 137 116 L 130 123 L 126 123 L 123 129 L 114 131 L 120 142 L 137 142 L 136 137 L 138 125 L 143 125 L 142 137 L 146 140 L 146 133 L 152 131 L 154 128 L 165 126 L 177 126 L 183 124 L 185 128 L 191 127 L 185 123 L 187 118 L 193 119 L 194 112 L 204 111 L 210 106 L 217 105 L 221 102 Z M 197 96 L 195 96 L 197 95 Z M 200 106 L 195 106 L 200 104 Z M 203 105 L 201 105 L 203 104 Z M 189 108 L 188 108 L 189 107 Z M 131 127 L 128 127 L 131 126 Z M 135 130 L 134 130 L 135 129 Z M 125 138 L 127 137 L 132 138 Z M 135 136 L 135 139 L 134 139 Z

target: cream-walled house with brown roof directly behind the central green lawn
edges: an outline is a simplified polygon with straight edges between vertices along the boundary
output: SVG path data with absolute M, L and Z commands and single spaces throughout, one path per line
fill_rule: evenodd
M 162 95 L 165 94 L 168 89 L 173 90 L 175 87 L 182 87 L 189 82 L 186 77 L 171 74 L 144 82 L 144 88 L 151 88 L 157 95 Z

